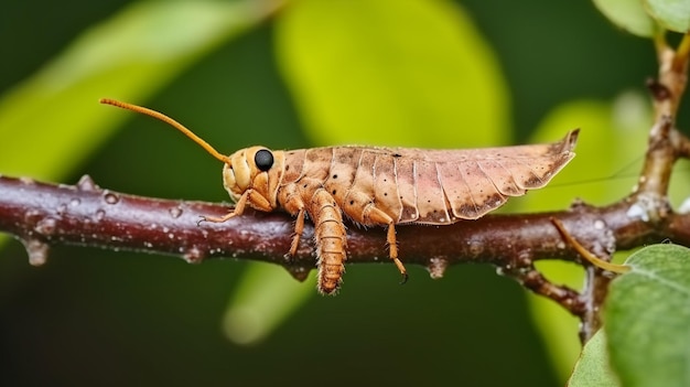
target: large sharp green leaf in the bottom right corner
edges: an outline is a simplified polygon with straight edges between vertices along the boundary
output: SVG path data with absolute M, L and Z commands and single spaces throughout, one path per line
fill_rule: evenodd
M 611 363 L 624 386 L 690 386 L 690 249 L 644 248 L 605 307 Z

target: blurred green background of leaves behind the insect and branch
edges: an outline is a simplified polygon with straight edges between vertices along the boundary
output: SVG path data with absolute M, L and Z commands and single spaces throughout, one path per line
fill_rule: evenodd
M 217 160 L 98 98 L 161 110 L 227 153 L 496 146 L 582 127 L 554 187 L 507 209 L 536 211 L 629 191 L 634 179 L 571 183 L 639 157 L 656 74 L 650 42 L 586 1 L 10 1 L 0 39 L 0 173 L 216 202 Z M 61 246 L 33 268 L 18 241 L 0 248 L 2 385 L 552 386 L 578 351 L 575 321 L 488 266 L 441 280 L 409 267 L 405 287 L 390 265 L 349 266 L 322 298 L 268 265 Z M 274 330 L 228 340 L 226 308 L 252 300 Z

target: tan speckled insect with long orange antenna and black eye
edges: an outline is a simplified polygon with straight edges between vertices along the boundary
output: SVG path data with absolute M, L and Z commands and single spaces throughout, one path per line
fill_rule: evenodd
M 476 219 L 508 196 L 545 186 L 573 157 L 579 130 L 561 141 L 503 148 L 429 150 L 378 147 L 325 147 L 272 151 L 251 147 L 231 155 L 216 151 L 174 119 L 112 99 L 101 104 L 141 112 L 182 131 L 224 163 L 223 181 L 235 209 L 222 223 L 258 211 L 283 209 L 295 216 L 290 255 L 297 252 L 304 218 L 314 224 L 319 291 L 337 291 L 347 259 L 344 216 L 364 226 L 387 227 L 389 257 L 402 275 L 396 226 L 449 225 Z

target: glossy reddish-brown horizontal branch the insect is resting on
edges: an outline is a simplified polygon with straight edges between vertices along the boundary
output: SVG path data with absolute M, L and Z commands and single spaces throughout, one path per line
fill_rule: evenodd
M 33 264 L 45 261 L 48 246 L 68 244 L 168 254 L 190 262 L 241 257 L 281 265 L 298 279 L 315 266 L 309 224 L 298 254 L 285 257 L 293 219 L 283 213 L 248 212 L 224 224 L 197 225 L 200 215 L 220 216 L 230 207 L 127 195 L 101 190 L 88 176 L 74 186 L 0 178 L 0 230 L 22 240 Z M 400 226 L 400 258 L 425 266 L 433 277 L 441 277 L 450 265 L 493 264 L 584 318 L 591 310 L 589 295 L 548 282 L 532 267 L 539 259 L 581 262 L 551 218 L 561 219 L 579 240 L 602 256 L 665 238 L 690 246 L 690 227 L 684 227 L 690 215 L 671 215 L 657 224 L 630 216 L 635 205 L 622 201 L 597 208 L 578 203 L 558 213 L 488 215 L 442 227 Z M 388 261 L 385 241 L 381 228 L 351 226 L 348 262 Z

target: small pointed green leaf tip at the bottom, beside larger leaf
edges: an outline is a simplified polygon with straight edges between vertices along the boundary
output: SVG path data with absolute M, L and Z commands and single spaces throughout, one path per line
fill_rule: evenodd
M 569 387 L 619 386 L 616 375 L 608 366 L 606 333 L 600 330 L 585 344 L 568 381 Z

